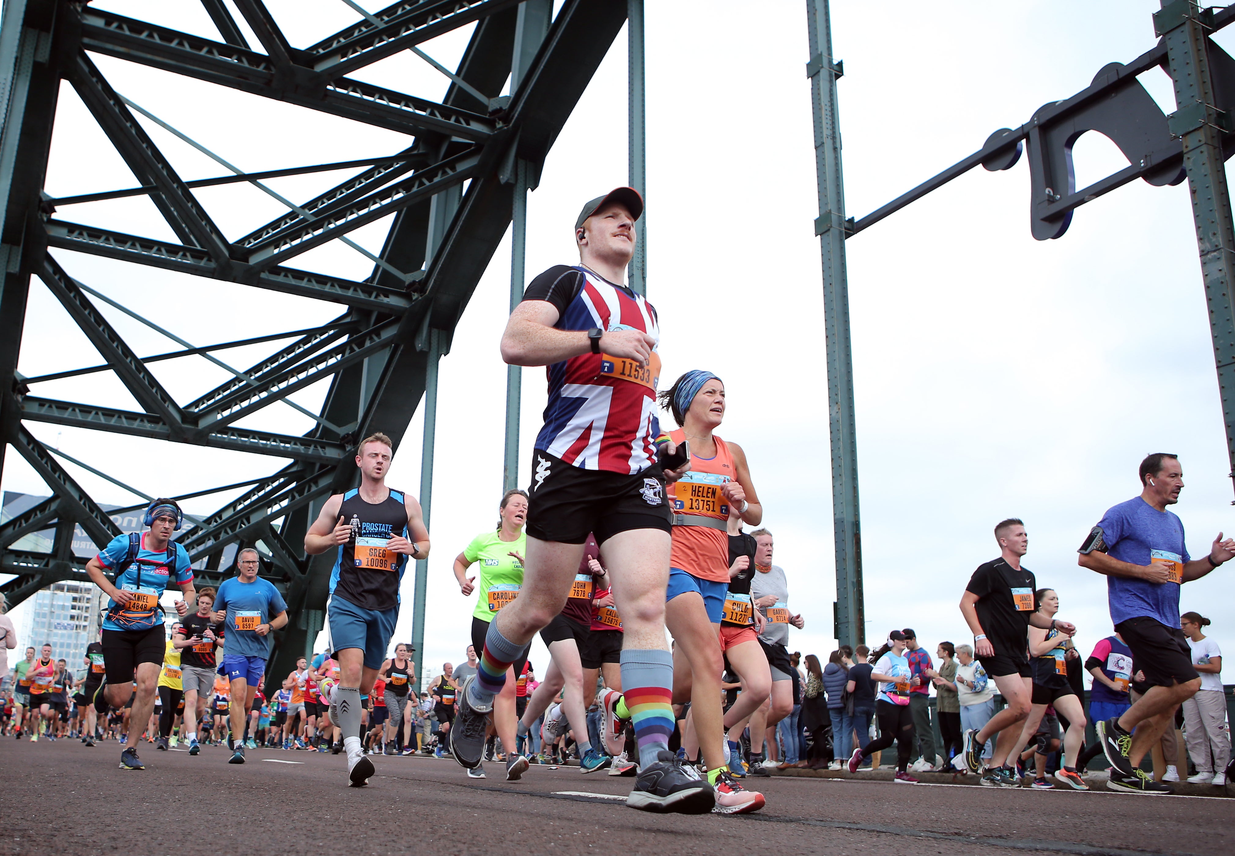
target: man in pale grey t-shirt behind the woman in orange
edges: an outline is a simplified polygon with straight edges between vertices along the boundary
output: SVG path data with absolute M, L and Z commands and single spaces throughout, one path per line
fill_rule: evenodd
M 781 765 L 769 761 L 758 765 L 755 757 L 763 756 L 763 739 L 768 736 L 768 742 L 776 746 L 776 724 L 793 713 L 793 677 L 790 674 L 793 665 L 789 662 L 789 652 L 785 644 L 789 641 L 789 625 L 803 627 L 804 621 L 800 615 L 789 611 L 789 584 L 784 577 L 784 569 L 772 564 L 772 532 L 758 529 L 751 532 L 758 547 L 755 551 L 755 579 L 751 581 L 751 600 L 763 614 L 767 623 L 763 632 L 760 634 L 760 647 L 768 658 L 768 669 L 772 672 L 772 695 L 762 708 L 751 716 L 751 768 L 755 774 L 767 774 L 762 766 L 779 767 Z

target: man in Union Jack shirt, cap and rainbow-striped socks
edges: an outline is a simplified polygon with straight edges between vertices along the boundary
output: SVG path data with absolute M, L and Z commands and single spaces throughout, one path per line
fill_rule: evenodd
M 700 814 L 715 805 L 711 786 L 668 751 L 673 655 L 664 636 L 672 543 L 664 485 L 689 464 L 664 471 L 657 462 L 659 327 L 656 310 L 621 284 L 642 212 L 643 200 L 631 188 L 584 205 L 574 221 L 578 267 L 537 277 L 506 322 L 503 359 L 547 366 L 550 398 L 532 453 L 524 579 L 489 623 L 477 673 L 459 688 L 450 744 L 461 765 L 479 765 L 487 714 L 505 686 L 506 668 L 526 656 L 532 636 L 566 603 L 594 532 L 625 621 L 625 699 L 613 713 L 631 720 L 641 767 L 626 804 Z M 666 452 L 674 450 L 666 440 Z M 604 762 L 608 757 L 589 752 L 580 771 Z M 519 756 L 508 755 L 506 765 L 519 765 Z

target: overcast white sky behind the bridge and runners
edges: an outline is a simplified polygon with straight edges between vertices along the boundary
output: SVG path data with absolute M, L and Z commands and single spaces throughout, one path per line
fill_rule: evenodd
M 217 38 L 191 0 L 106 0 L 122 14 Z M 371 0 L 372 7 L 378 7 Z M 293 44 L 346 26 L 340 0 L 268 0 Z M 832 4 L 835 54 L 845 61 L 840 121 L 846 208 L 861 216 L 981 148 L 1049 101 L 1089 84 L 1108 62 L 1153 44 L 1153 0 L 993 4 L 981 15 L 862 0 Z M 469 30 L 424 48 L 457 62 Z M 256 43 L 256 40 L 251 40 Z M 1235 51 L 1235 33 L 1219 35 Z M 648 299 L 662 324 L 664 376 L 709 368 L 726 382 L 719 431 L 740 442 L 776 534 L 790 606 L 806 626 L 790 648 L 826 655 L 835 598 L 827 384 L 811 143 L 805 2 L 650 2 L 647 10 Z M 112 85 L 247 170 L 399 151 L 405 137 L 95 57 Z M 446 80 L 409 53 L 361 73 L 374 83 L 440 99 Z M 1173 110 L 1167 77 L 1142 75 Z M 146 122 L 184 178 L 221 169 Z M 1076 147 L 1077 187 L 1126 161 L 1089 133 Z M 341 179 L 319 174 L 272 187 L 308 199 Z M 626 183 L 626 37 L 605 57 L 529 201 L 527 279 L 573 263 L 571 226 L 584 200 Z M 62 90 L 48 193 L 131 187 L 133 178 L 72 88 Z M 236 238 L 280 212 L 246 185 L 199 191 Z M 1020 516 L 1025 560 L 1056 587 L 1061 618 L 1079 626 L 1088 653 L 1112 632 L 1104 581 L 1076 564 L 1076 547 L 1108 506 L 1136 494 L 1147 452 L 1178 453 L 1187 489 L 1176 510 L 1202 556 L 1219 530 L 1235 531 L 1230 469 L 1197 261 L 1187 185 L 1130 184 L 1077 211 L 1061 240 L 1029 232 L 1029 173 L 977 169 L 848 242 L 857 445 L 862 497 L 867 639 L 913 626 L 934 650 L 965 641 L 956 608 L 973 568 L 997 555 L 993 525 Z M 173 238 L 148 200 L 62 209 L 57 216 Z M 388 221 L 353 238 L 379 251 Z M 270 292 L 56 251 L 75 277 L 142 311 L 194 345 L 295 330 L 341 308 Z M 353 278 L 369 263 L 330 245 L 293 263 Z M 509 240 L 442 359 L 433 552 L 422 660 L 458 662 L 472 602 L 451 561 L 495 521 L 500 498 L 505 369 L 498 340 L 506 315 Z M 110 308 L 140 355 L 174 350 Z M 219 356 L 248 366 L 274 346 Z M 35 280 L 21 372 L 95 364 L 98 353 Z M 200 358 L 152 364 L 183 403 L 224 372 Z M 325 383 L 294 398 L 320 406 Z M 110 373 L 56 382 L 35 394 L 136 408 Z M 524 372 L 522 450 L 540 425 L 543 373 Z M 309 420 L 273 405 L 242 422 L 303 432 Z M 178 494 L 273 472 L 259 456 L 59 430 L 30 424 L 49 445 L 151 494 Z M 421 424 L 409 427 L 389 482 L 415 493 Z M 69 464 L 103 503 L 136 498 Z M 9 453 L 4 489 L 44 494 Z M 526 472 L 521 482 L 526 480 Z M 206 514 L 226 497 L 188 503 Z M 1235 648 L 1230 569 L 1183 589 L 1182 609 L 1214 620 Z M 412 577 L 404 581 L 399 639 L 411 635 Z M 1224 594 L 1226 597 L 1224 597 Z M 21 608 L 17 608 L 19 610 Z M 19 624 L 20 626 L 20 624 Z M 537 641 L 537 665 L 546 662 Z M 543 667 L 541 667 L 543 671 Z M 1229 674 L 1228 674 L 1229 679 Z

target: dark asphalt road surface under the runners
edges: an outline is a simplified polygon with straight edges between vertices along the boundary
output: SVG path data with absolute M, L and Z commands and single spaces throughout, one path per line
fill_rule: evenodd
M 778 776 L 747 779 L 767 795 L 757 814 L 652 815 L 611 798 L 632 779 L 577 767 L 505 782 L 485 765 L 472 781 L 450 760 L 374 757 L 369 786 L 350 788 L 343 756 L 140 751 L 136 772 L 114 741 L 0 741 L 0 854 L 1235 852 L 1233 799 Z

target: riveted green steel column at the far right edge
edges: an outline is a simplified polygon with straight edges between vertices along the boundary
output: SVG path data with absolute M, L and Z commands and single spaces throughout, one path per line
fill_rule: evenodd
M 1221 143 L 1221 124 L 1229 121 L 1229 114 L 1214 106 L 1208 27 L 1203 16 L 1191 2 L 1162 0 L 1162 11 L 1153 16 L 1153 28 L 1156 35 L 1166 36 L 1167 61 L 1174 82 L 1178 110 L 1168 117 L 1168 127 L 1183 137 L 1183 166 L 1188 173 L 1218 389 L 1223 398 L 1226 458 L 1230 472 L 1235 473 L 1235 308 L 1231 305 L 1235 224 Z

